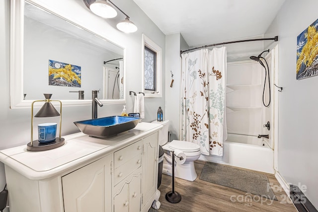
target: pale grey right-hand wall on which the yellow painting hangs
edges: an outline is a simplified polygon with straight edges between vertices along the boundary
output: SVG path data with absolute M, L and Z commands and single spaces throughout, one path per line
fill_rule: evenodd
M 317 0 L 286 0 L 265 36 L 279 36 L 278 171 L 303 185 L 318 208 L 318 76 L 296 80 L 297 36 L 317 18 Z M 306 190 L 306 191 L 305 191 Z

